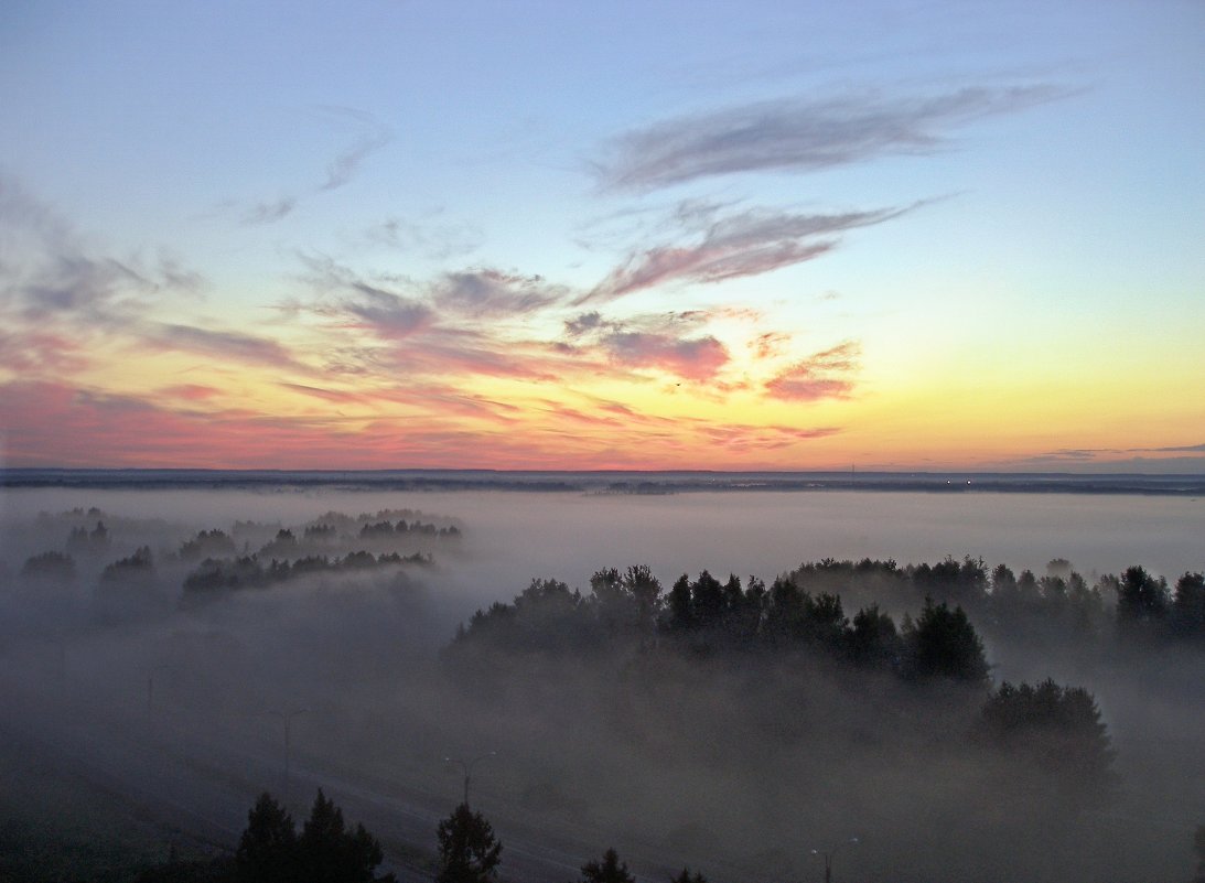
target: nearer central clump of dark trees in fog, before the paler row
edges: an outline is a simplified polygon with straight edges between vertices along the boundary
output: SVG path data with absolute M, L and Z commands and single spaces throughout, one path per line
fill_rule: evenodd
M 721 583 L 703 571 L 686 575 L 669 593 L 647 567 L 602 570 L 590 594 L 557 579 L 534 579 L 513 604 L 478 611 L 455 643 L 517 652 L 582 652 L 616 641 L 660 642 L 698 653 L 803 648 L 910 678 L 948 677 L 981 683 L 988 664 L 983 642 L 962 607 L 931 598 L 900 628 L 877 605 L 851 620 L 841 596 L 812 595 L 787 577 L 770 588 L 752 577 Z

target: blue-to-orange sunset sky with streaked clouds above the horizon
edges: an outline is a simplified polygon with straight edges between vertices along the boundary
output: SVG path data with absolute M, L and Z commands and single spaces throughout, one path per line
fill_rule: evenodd
M 1205 471 L 1205 4 L 0 6 L 0 466 Z

